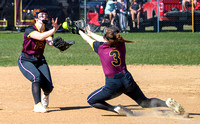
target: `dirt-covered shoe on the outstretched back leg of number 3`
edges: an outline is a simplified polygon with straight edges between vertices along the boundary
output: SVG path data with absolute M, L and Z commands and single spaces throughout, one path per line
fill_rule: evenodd
M 183 115 L 185 113 L 184 108 L 172 98 L 168 98 L 166 104 L 177 114 Z

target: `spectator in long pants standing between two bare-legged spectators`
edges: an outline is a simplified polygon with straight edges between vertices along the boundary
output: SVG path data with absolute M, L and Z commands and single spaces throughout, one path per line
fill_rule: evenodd
M 123 32 L 125 32 L 127 24 L 127 1 L 117 0 L 117 10 L 119 11 L 119 25 Z

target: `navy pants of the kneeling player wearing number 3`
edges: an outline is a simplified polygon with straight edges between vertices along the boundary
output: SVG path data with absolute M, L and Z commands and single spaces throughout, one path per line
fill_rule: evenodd
M 129 72 L 125 74 L 115 74 L 113 78 L 108 78 L 106 76 L 105 86 L 91 93 L 87 101 L 95 108 L 113 111 L 114 107 L 105 101 L 120 96 L 122 93 L 132 98 L 137 104 L 144 108 L 167 107 L 163 100 L 157 98 L 148 99 Z

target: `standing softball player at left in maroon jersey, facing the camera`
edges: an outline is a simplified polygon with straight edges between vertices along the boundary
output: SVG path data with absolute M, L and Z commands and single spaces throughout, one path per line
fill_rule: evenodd
M 18 59 L 18 66 L 22 74 L 32 82 L 32 95 L 35 101 L 35 112 L 46 112 L 49 104 L 49 94 L 53 90 L 50 70 L 43 56 L 46 43 L 53 46 L 52 35 L 61 26 L 57 24 L 58 18 L 52 19 L 53 28 L 48 30 L 48 13 L 45 9 L 34 9 L 33 26 L 27 27 L 24 33 L 22 53 Z M 41 89 L 44 94 L 41 102 Z

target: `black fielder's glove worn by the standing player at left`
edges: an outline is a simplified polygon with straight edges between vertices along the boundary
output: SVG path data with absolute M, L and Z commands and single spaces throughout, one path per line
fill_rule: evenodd
M 64 41 L 60 36 L 53 39 L 53 45 L 58 48 L 60 51 L 65 51 L 68 49 L 71 45 L 75 44 L 75 41 Z

